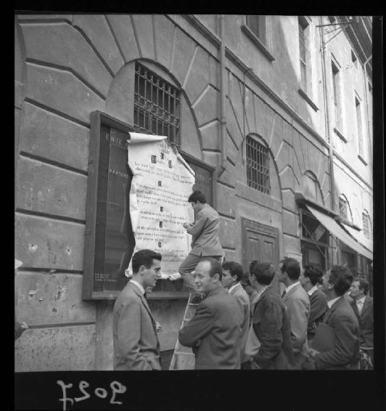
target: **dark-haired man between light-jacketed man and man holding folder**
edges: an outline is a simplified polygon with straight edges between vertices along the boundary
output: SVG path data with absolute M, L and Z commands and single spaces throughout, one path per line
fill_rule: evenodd
M 322 321 L 324 314 L 328 310 L 327 299 L 324 292 L 317 288 L 317 284 L 322 284 L 323 273 L 316 267 L 308 265 L 304 267 L 300 275 L 300 284 L 309 295 L 311 309 L 309 316 L 309 325 L 307 328 L 307 340 L 309 345 L 315 336 L 317 325 Z

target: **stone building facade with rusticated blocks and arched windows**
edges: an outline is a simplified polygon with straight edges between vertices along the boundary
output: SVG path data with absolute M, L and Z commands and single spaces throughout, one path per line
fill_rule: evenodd
M 368 55 L 349 28 L 324 46 L 335 33 L 317 26 L 331 21 L 16 16 L 15 258 L 23 262 L 16 316 L 29 325 L 15 343 L 16 371 L 112 369 L 114 301 L 82 299 L 88 146 L 96 110 L 135 126 L 138 63 L 180 90 L 180 150 L 209 175 L 202 185 L 221 217 L 227 260 L 247 270 L 254 259 L 294 256 L 322 269 L 348 262 L 369 274 L 370 260 L 334 235 L 315 241 L 304 231 L 307 218 L 314 221 L 307 204 L 336 217 L 345 199 L 343 223 L 372 250 L 372 234 L 362 234 L 363 219 L 372 223 L 371 64 L 363 69 Z M 359 31 L 368 21 L 357 23 Z M 341 129 L 331 92 L 336 69 Z M 352 119 L 361 119 L 361 146 Z M 149 300 L 165 353 L 185 304 Z

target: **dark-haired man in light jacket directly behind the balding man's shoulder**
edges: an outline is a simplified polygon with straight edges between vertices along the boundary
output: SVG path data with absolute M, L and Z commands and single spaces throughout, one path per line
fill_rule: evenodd
M 241 278 L 243 277 L 243 267 L 238 262 L 227 261 L 223 266 L 222 284 L 228 289 L 230 295 L 237 299 L 242 314 L 241 321 L 241 368 L 243 363 L 248 360 L 245 356 L 245 343 L 247 342 L 249 325 L 250 325 L 250 297 L 241 286 Z

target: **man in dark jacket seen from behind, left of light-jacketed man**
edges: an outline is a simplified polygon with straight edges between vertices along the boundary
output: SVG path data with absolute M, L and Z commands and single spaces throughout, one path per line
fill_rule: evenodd
M 250 282 L 258 294 L 247 349 L 252 369 L 286 370 L 295 361 L 285 304 L 271 286 L 274 275 L 269 262 L 251 262 Z

